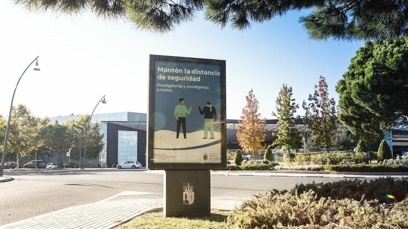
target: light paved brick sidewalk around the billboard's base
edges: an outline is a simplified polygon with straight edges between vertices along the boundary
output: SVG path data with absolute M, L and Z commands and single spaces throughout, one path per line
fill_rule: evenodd
M 163 198 L 134 198 L 159 195 L 163 196 L 148 192 L 122 192 L 96 203 L 68 207 L 2 225 L 0 229 L 111 229 L 144 212 L 162 210 Z M 240 203 L 240 200 L 211 197 L 212 209 L 231 210 Z

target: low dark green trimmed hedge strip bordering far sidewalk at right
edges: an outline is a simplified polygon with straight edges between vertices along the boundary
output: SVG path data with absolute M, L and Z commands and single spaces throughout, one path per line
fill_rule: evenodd
M 325 170 L 337 172 L 408 172 L 406 165 L 384 164 L 353 164 L 353 165 L 323 165 Z

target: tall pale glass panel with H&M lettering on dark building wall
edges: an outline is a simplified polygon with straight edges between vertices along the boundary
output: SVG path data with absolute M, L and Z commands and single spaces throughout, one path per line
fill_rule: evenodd
M 118 163 L 137 161 L 137 131 L 118 130 Z

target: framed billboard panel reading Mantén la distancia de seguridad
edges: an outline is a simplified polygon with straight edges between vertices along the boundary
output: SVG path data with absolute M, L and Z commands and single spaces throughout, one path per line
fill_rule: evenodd
M 150 55 L 151 170 L 226 167 L 225 61 Z

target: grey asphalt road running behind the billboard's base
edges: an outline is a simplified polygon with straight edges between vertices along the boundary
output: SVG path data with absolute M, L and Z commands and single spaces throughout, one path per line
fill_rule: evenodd
M 0 225 L 66 207 L 94 203 L 123 191 L 163 193 L 163 175 L 143 170 L 9 170 L 4 175 L 12 176 L 15 180 L 0 183 Z M 290 189 L 296 183 L 331 182 L 339 179 L 211 176 L 211 196 L 251 198 L 253 194 L 272 189 Z

